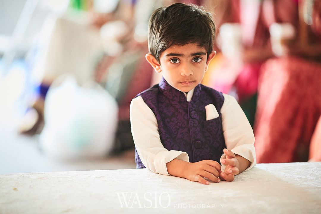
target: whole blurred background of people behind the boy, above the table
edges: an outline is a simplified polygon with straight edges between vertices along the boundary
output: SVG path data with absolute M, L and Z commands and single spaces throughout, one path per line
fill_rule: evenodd
M 202 83 L 238 100 L 257 163 L 321 161 L 321 0 L 0 0 L 0 174 L 135 168 L 148 19 L 176 2 L 212 13 Z

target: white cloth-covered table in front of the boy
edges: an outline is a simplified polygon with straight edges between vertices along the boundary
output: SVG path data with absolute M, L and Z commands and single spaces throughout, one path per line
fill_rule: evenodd
M 148 169 L 0 175 L 2 214 L 181 212 L 320 213 L 321 162 L 257 164 L 209 185 Z

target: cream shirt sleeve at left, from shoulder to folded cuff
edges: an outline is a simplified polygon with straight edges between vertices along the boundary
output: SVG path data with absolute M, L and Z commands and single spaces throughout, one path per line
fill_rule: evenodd
M 137 153 L 144 166 L 152 172 L 169 175 L 166 163 L 175 158 L 189 161 L 186 152 L 164 148 L 157 119 L 141 96 L 134 98 L 130 104 L 130 122 Z

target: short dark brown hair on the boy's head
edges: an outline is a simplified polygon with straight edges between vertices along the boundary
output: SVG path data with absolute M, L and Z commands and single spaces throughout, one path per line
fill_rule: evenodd
M 176 3 L 155 10 L 148 23 L 149 52 L 159 61 L 172 45 L 197 43 L 207 56 L 213 50 L 215 24 L 212 15 L 194 4 Z

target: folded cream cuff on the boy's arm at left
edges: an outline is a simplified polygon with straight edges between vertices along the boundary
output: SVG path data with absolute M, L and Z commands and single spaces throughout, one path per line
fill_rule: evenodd
M 155 170 L 162 175 L 169 175 L 166 167 L 166 163 L 172 161 L 173 159 L 179 159 L 183 161 L 189 161 L 188 154 L 183 151 L 161 151 L 158 152 L 154 159 Z

